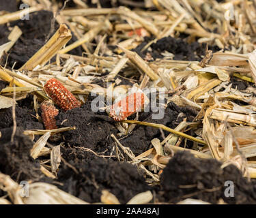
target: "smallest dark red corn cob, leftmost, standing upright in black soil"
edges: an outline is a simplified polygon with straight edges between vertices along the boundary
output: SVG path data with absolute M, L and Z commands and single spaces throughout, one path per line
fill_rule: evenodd
M 51 102 L 41 103 L 42 120 L 45 129 L 57 129 L 55 116 L 59 114 L 59 110 Z

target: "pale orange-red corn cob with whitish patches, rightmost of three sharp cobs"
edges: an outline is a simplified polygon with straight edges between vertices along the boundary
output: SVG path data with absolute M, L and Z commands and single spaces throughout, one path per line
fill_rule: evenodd
M 109 112 L 109 116 L 111 116 L 115 121 L 123 121 L 128 116 L 141 111 L 147 102 L 149 102 L 149 100 L 142 91 L 131 93 L 119 102 L 113 104 Z

